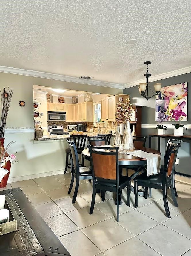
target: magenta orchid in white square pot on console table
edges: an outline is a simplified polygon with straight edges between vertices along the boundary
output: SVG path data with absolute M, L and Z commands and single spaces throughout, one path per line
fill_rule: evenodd
M 181 124 L 181 120 L 186 116 L 186 113 L 184 113 L 184 111 L 182 111 L 181 109 L 172 109 L 170 110 L 170 114 L 170 119 L 176 121 L 176 124 L 172 124 L 175 126 L 174 135 L 183 136 L 184 129 L 187 130 L 187 128 L 184 127 L 183 124 Z

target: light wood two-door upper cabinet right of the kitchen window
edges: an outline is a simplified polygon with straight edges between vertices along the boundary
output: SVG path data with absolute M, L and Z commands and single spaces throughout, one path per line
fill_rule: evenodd
M 115 121 L 115 96 L 101 99 L 101 121 Z

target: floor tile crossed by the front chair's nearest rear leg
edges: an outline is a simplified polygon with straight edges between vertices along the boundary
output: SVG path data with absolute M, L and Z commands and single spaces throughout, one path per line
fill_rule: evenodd
M 117 216 L 117 205 L 115 205 L 115 199 L 95 204 L 95 207 L 110 218 Z M 131 210 L 133 210 L 133 208 L 127 206 L 127 204 L 123 203 L 119 206 L 119 214 L 126 213 Z

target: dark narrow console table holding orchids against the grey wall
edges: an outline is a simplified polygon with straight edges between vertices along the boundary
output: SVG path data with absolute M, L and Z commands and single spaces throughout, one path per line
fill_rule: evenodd
M 181 140 L 191 140 L 191 135 L 184 135 L 184 136 L 175 136 L 173 134 L 149 134 L 149 148 L 151 148 L 151 138 L 155 137 L 158 138 L 158 151 L 161 151 L 161 138 L 172 138 L 172 139 L 181 139 Z M 180 172 L 176 172 L 175 174 L 179 174 L 185 177 L 191 177 L 191 175 L 183 174 Z

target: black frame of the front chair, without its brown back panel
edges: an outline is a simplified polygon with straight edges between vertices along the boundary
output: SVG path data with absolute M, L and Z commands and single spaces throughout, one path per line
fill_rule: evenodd
M 120 201 L 120 194 L 122 193 L 122 189 L 127 187 L 127 206 L 130 206 L 130 178 L 125 176 L 127 179 L 126 183 L 122 183 L 120 185 L 120 174 L 119 174 L 119 160 L 118 160 L 118 147 L 113 147 L 108 150 L 107 147 L 96 147 L 96 146 L 91 146 L 87 145 L 89 148 L 90 152 L 90 161 L 91 161 L 91 166 L 92 166 L 92 177 L 93 177 L 93 193 L 92 193 L 92 201 L 91 201 L 91 207 L 90 207 L 90 214 L 93 213 L 94 205 L 95 205 L 95 199 L 96 199 L 96 189 L 100 189 L 102 192 L 102 201 L 105 199 L 105 191 L 110 191 L 110 192 L 115 192 L 117 193 L 117 221 L 119 221 L 119 201 Z M 98 150 L 96 150 L 98 149 Z M 107 150 L 107 151 L 104 151 Z M 101 177 L 96 177 L 94 174 L 94 165 L 93 165 L 93 160 L 92 160 L 92 154 L 99 154 L 99 155 L 114 155 L 116 156 L 116 180 L 111 180 L 111 179 L 105 179 Z M 101 182 L 102 184 L 100 184 Z M 115 186 L 111 186 L 110 184 L 114 183 L 116 184 Z

